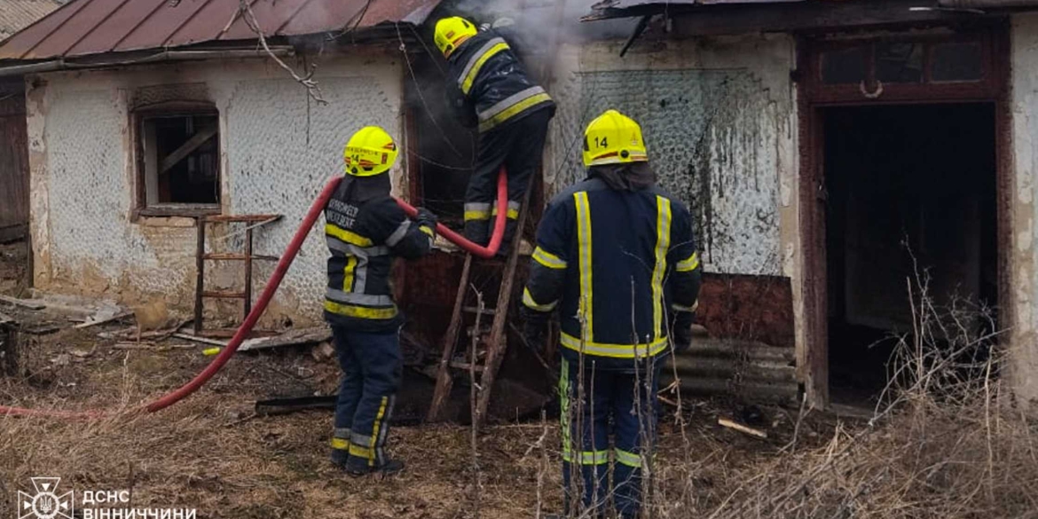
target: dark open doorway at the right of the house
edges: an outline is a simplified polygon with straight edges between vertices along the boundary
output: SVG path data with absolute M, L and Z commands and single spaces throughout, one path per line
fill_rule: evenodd
M 894 337 L 911 329 L 914 272 L 938 306 L 998 304 L 994 107 L 822 110 L 834 402 L 882 390 Z

